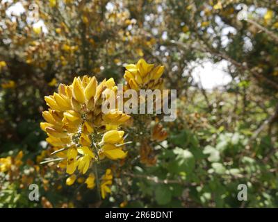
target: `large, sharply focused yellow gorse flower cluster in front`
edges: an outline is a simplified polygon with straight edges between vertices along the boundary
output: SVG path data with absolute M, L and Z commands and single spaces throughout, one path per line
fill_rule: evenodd
M 60 84 L 58 92 L 44 98 L 49 110 L 42 112 L 46 122 L 40 127 L 60 157 L 58 166 L 66 167 L 68 174 L 76 169 L 85 174 L 105 157 L 116 160 L 126 156 L 122 151 L 124 131 L 118 128 L 129 116 L 115 109 L 108 114 L 101 112 L 106 89 L 117 91 L 113 78 L 98 83 L 95 77 L 83 76 L 74 78 L 72 85 Z M 113 130 L 108 130 L 111 124 Z M 68 178 L 67 184 L 71 185 L 73 179 Z M 92 176 L 86 181 L 92 187 Z

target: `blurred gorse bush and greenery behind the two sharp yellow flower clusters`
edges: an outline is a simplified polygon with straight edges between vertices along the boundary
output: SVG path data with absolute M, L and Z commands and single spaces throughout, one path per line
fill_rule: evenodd
M 0 207 L 278 207 L 277 6 L 2 0 Z M 81 179 L 68 187 L 54 164 L 39 164 L 50 152 L 39 126 L 44 96 L 84 74 L 123 83 L 124 66 L 139 58 L 165 66 L 178 117 L 163 123 L 163 142 L 131 137 L 141 155 L 99 200 Z M 204 82 L 223 76 L 225 84 Z M 28 200 L 31 183 L 38 202 Z M 236 198 L 239 184 L 247 201 Z

